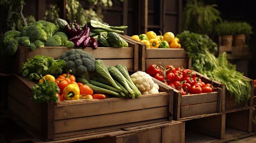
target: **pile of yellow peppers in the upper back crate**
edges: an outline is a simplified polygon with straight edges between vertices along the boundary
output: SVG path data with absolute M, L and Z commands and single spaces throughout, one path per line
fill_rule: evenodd
M 161 31 L 159 31 L 161 33 Z M 146 34 L 132 35 L 133 40 L 146 45 L 146 48 L 180 48 L 179 39 L 172 32 L 166 32 L 164 35 L 156 35 L 154 31 L 148 31 Z

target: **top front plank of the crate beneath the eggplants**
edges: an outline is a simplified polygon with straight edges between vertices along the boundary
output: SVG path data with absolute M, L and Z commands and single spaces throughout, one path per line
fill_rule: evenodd
M 31 51 L 26 47 L 26 58 L 33 58 L 35 55 L 45 55 L 58 59 L 63 53 L 71 50 L 72 48 L 67 47 L 39 47 L 35 51 Z M 74 48 L 79 49 L 79 48 Z M 133 48 L 111 48 L 111 47 L 98 47 L 93 48 L 82 48 L 83 51 L 91 53 L 95 59 L 126 59 L 133 58 Z M 118 54 L 113 54 L 118 53 Z

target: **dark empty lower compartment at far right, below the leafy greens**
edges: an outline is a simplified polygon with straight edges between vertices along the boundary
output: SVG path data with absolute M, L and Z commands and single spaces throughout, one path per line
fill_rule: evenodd
M 238 112 L 231 112 L 226 114 L 226 127 L 233 128 L 244 132 L 252 132 L 251 120 L 252 110 L 243 110 Z

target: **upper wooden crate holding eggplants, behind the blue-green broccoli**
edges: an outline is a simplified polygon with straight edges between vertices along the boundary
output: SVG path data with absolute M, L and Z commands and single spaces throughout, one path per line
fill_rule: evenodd
M 128 42 L 128 47 L 126 48 L 112 48 L 112 47 L 98 47 L 93 48 L 82 48 L 83 51 L 91 53 L 95 59 L 102 59 L 104 64 L 107 66 L 115 66 L 117 64 L 123 64 L 128 70 L 138 70 L 139 69 L 139 46 L 138 44 Z M 19 74 L 19 70 L 23 63 L 27 62 L 28 58 L 33 58 L 35 55 L 45 55 L 58 59 L 63 53 L 69 51 L 72 48 L 67 47 L 39 47 L 35 51 L 31 51 L 29 47 L 19 46 L 13 60 L 11 70 Z M 6 63 L 6 66 L 9 64 Z M 9 67 L 9 66 L 8 66 Z

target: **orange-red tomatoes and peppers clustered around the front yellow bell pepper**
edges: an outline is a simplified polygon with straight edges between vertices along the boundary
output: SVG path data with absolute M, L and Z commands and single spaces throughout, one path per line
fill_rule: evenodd
M 63 90 L 69 84 L 76 84 L 79 86 L 80 99 L 105 99 L 106 95 L 104 94 L 93 94 L 92 88 L 90 86 L 82 84 L 81 82 L 76 82 L 76 78 L 74 75 L 70 75 L 69 72 L 67 74 L 62 74 L 58 76 L 58 78 L 54 81 L 57 86 L 60 88 L 60 94 L 56 93 L 56 96 L 60 99 L 60 101 L 64 101 Z

